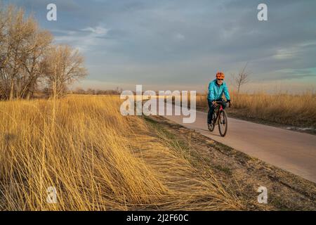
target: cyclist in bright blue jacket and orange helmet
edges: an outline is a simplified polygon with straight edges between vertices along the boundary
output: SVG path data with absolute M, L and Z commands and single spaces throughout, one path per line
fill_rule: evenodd
M 207 96 L 207 101 L 209 103 L 209 113 L 207 115 L 207 125 L 208 128 L 211 129 L 212 117 L 214 109 L 216 108 L 216 101 L 224 101 L 222 98 L 223 94 L 225 94 L 225 98 L 229 103 L 229 107 L 232 106 L 232 102 L 230 101 L 230 93 L 228 92 L 228 87 L 224 82 L 225 75 L 223 72 L 216 73 L 216 79 L 209 83 L 209 94 Z M 226 103 L 222 103 L 223 108 L 226 108 Z

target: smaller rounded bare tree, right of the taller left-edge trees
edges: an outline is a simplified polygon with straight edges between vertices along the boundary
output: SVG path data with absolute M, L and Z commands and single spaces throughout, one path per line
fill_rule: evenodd
M 78 50 L 67 45 L 51 46 L 44 60 L 44 71 L 53 98 L 65 94 L 67 84 L 87 75 L 83 63 L 84 58 Z

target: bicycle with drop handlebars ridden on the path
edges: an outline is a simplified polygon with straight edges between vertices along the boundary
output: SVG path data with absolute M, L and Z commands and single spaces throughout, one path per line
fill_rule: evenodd
M 212 122 L 211 122 L 211 128 L 209 131 L 213 131 L 216 122 L 218 123 L 218 129 L 220 131 L 220 136 L 225 136 L 227 133 L 228 129 L 228 120 L 227 120 L 227 115 L 225 113 L 225 110 L 223 108 L 223 103 L 228 103 L 228 101 L 216 101 L 218 105 L 216 105 L 216 108 L 214 109 L 213 117 L 212 117 Z

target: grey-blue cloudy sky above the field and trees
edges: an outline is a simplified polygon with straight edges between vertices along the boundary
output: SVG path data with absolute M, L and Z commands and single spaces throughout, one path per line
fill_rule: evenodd
M 3 0 L 4 1 L 4 0 Z M 316 85 L 314 0 L 13 0 L 34 13 L 56 43 L 78 48 L 96 89 L 195 89 L 217 70 L 246 63 L 252 90 L 303 91 Z M 46 20 L 54 3 L 58 20 Z M 268 21 L 257 6 L 268 5 Z

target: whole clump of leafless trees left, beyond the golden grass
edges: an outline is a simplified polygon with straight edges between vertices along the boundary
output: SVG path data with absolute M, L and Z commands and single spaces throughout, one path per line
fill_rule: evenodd
M 52 41 L 32 15 L 0 2 L 0 99 L 33 98 L 39 90 L 59 97 L 87 75 L 77 50 Z

